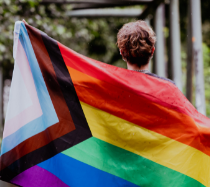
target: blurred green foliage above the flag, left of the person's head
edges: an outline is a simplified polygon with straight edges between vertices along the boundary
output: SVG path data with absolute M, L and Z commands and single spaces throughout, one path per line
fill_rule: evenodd
M 11 78 L 15 21 L 30 25 L 73 50 L 109 64 L 126 67 L 116 47 L 118 29 L 135 19 L 77 19 L 68 16 L 71 5 L 42 5 L 39 0 L 0 0 L 0 62 L 4 78 Z

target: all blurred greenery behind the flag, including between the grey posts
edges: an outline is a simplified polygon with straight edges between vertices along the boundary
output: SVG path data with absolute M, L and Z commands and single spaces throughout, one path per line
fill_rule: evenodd
M 201 6 L 206 107 L 207 115 L 210 116 L 210 1 L 202 0 Z M 140 6 L 135 7 L 139 8 Z M 180 0 L 181 54 L 184 84 L 186 82 L 187 51 L 186 9 L 187 0 Z M 116 46 L 116 35 L 124 23 L 136 19 L 77 19 L 68 16 L 68 11 L 70 10 L 71 6 L 66 4 L 42 5 L 38 0 L 0 0 L 0 63 L 3 66 L 4 79 L 11 79 L 12 76 L 14 64 L 12 58 L 14 23 L 22 19 L 81 54 L 126 68 L 126 64 L 122 61 Z M 164 29 L 166 41 L 169 39 L 168 19 L 169 5 L 166 4 L 166 27 Z M 185 85 L 183 86 L 185 88 Z

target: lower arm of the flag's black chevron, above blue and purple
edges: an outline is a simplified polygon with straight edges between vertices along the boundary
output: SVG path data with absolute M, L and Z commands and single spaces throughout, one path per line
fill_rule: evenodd
M 35 166 L 56 154 L 88 139 L 90 133 L 82 127 L 74 130 L 52 142 L 44 147 L 41 147 L 15 161 L 9 167 L 0 172 L 1 180 L 10 181 L 21 172 L 28 168 Z

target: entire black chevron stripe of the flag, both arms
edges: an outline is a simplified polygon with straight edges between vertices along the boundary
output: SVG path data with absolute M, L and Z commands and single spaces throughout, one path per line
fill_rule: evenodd
M 54 155 L 92 137 L 90 128 L 83 113 L 74 85 L 64 63 L 63 57 L 60 53 L 57 42 L 47 35 L 42 35 L 42 39 L 51 58 L 60 89 L 71 113 L 76 130 L 21 157 L 10 166 L 0 171 L 0 179 L 4 181 L 9 182 L 15 176 L 27 170 L 28 168 L 37 165 L 40 162 L 45 161 Z

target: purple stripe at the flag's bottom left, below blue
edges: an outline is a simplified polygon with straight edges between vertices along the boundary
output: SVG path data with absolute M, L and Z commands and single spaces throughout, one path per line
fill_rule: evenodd
M 23 187 L 69 187 L 49 171 L 33 166 L 11 180 L 12 183 Z

